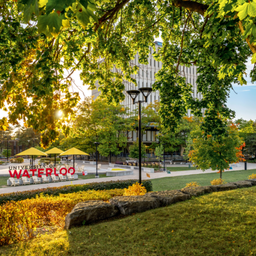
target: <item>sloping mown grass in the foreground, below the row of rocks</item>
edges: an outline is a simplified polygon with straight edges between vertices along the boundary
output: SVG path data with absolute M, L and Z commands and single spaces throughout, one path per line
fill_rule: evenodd
M 194 197 L 4 246 L 0 255 L 256 255 L 256 188 Z

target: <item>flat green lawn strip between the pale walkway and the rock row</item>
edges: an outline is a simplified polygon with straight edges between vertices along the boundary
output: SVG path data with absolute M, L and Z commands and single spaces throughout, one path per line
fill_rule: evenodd
M 238 180 L 246 180 L 249 175 L 252 173 L 256 173 L 256 169 L 252 170 L 242 170 L 242 171 L 228 171 L 222 173 L 222 179 L 227 182 L 238 181 Z M 213 173 L 203 173 L 202 174 L 191 174 L 191 175 L 183 175 L 177 177 L 166 177 L 151 180 L 153 183 L 154 191 L 161 190 L 173 190 L 173 189 L 181 189 L 186 186 L 186 183 L 191 181 L 198 182 L 201 186 L 210 186 L 211 180 L 220 178 L 220 174 Z

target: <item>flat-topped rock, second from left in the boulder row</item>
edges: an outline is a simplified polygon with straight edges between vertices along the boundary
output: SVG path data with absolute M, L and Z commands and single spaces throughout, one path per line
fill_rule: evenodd
M 123 215 L 145 212 L 160 206 L 157 198 L 145 196 L 116 196 L 109 199 L 109 203 L 115 205 Z

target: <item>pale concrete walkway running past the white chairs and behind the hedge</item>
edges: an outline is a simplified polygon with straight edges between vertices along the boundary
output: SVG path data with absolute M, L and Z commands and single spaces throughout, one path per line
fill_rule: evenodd
M 240 164 L 241 164 L 241 167 L 233 167 L 233 170 L 229 170 L 229 171 L 244 170 L 244 163 L 240 163 Z M 185 165 L 180 165 L 180 164 L 167 165 L 167 167 L 169 167 L 169 166 L 170 167 L 177 167 L 177 169 L 179 167 L 185 167 Z M 105 169 L 107 167 L 107 165 L 106 166 L 101 166 L 101 167 L 104 167 L 104 169 Z M 85 169 L 86 169 L 86 166 L 85 166 Z M 256 164 L 247 163 L 247 170 L 250 170 L 250 169 L 256 169 Z M 1 171 L 4 171 L 4 170 L 1 170 Z M 1 173 L 1 171 L 0 171 L 0 173 Z M 212 173 L 212 172 L 213 171 L 211 171 L 210 169 L 206 170 L 204 172 L 202 172 L 201 170 L 177 171 L 177 172 L 171 172 L 171 173 L 157 172 L 157 173 L 150 173 L 149 174 L 150 178 L 147 177 L 146 172 L 142 172 L 142 180 L 157 179 L 157 178 L 164 178 L 164 177 L 176 177 L 176 176 L 182 176 L 182 175 Z M 217 171 L 214 171 L 214 172 L 217 172 Z M 16 191 L 33 190 L 33 189 L 39 189 L 39 188 L 47 188 L 47 187 L 60 187 L 60 186 L 71 185 L 71 184 L 75 185 L 75 184 L 86 184 L 86 183 L 92 183 L 92 182 L 102 182 L 102 181 L 111 181 L 111 180 L 130 180 L 130 179 L 138 179 L 138 178 L 139 178 L 139 171 L 133 170 L 132 175 L 125 175 L 125 176 L 106 177 L 106 178 L 99 178 L 99 179 L 63 181 L 63 182 L 58 182 L 58 183 L 55 182 L 55 183 L 38 184 L 38 185 L 27 185 L 27 186 L 0 188 L 0 194 L 12 193 L 12 192 L 16 192 Z

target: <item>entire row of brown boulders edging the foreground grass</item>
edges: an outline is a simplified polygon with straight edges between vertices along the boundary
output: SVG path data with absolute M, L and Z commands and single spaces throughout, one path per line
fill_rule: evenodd
M 158 207 L 186 201 L 191 196 L 256 186 L 256 179 L 229 182 L 223 185 L 190 187 L 180 190 L 149 192 L 143 196 L 116 196 L 109 203 L 102 200 L 86 201 L 75 205 L 65 218 L 65 229 L 114 217 L 118 214 L 130 215 Z

